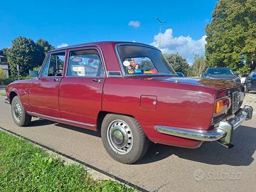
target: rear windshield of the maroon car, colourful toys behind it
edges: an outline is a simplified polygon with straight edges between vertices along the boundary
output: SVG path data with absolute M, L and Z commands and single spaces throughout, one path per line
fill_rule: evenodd
M 176 75 L 161 51 L 146 46 L 123 45 L 117 51 L 126 75 Z

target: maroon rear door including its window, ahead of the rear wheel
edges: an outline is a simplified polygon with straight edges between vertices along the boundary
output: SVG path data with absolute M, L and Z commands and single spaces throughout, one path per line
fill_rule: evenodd
M 64 119 L 95 129 L 97 114 L 102 108 L 104 74 L 98 48 L 69 51 L 59 96 L 60 112 Z

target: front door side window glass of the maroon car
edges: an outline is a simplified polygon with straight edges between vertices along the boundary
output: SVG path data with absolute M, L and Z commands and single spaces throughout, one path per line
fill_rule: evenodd
M 65 63 L 65 52 L 52 53 L 48 56 L 43 67 L 41 76 L 63 76 L 63 66 Z

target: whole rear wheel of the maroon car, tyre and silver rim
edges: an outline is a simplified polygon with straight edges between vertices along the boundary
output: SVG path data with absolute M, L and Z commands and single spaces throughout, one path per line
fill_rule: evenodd
M 133 117 L 107 114 L 102 122 L 101 135 L 107 153 L 123 164 L 141 159 L 149 146 L 149 139 Z

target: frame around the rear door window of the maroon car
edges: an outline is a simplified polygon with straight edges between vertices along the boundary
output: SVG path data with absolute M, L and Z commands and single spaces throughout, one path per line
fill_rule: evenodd
M 88 77 L 88 76 L 71 76 L 71 75 L 68 75 L 70 53 L 72 53 L 73 51 L 82 51 L 82 50 L 96 50 L 97 51 L 98 56 L 100 58 L 100 64 L 102 65 L 102 71 L 103 71 L 102 76 Z M 93 46 L 82 47 L 82 48 L 73 48 L 73 49 L 68 50 L 68 54 L 67 54 L 67 58 L 66 58 L 65 77 L 66 78 L 105 78 L 106 77 L 105 60 L 102 58 L 102 55 L 100 53 L 101 53 L 101 51 L 99 51 L 97 48 L 95 48 Z

